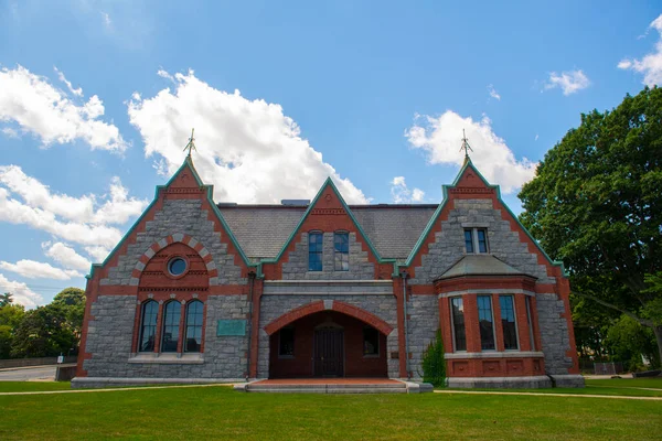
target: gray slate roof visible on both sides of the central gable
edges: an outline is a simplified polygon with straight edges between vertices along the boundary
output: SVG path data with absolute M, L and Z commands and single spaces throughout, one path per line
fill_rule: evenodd
M 383 258 L 406 259 L 437 205 L 350 205 Z M 252 260 L 278 255 L 306 206 L 218 204 L 239 246 Z

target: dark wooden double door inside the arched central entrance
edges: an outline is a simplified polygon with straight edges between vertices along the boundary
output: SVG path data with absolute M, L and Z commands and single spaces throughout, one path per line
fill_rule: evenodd
M 314 331 L 313 374 L 316 377 L 344 376 L 344 332 L 339 329 Z

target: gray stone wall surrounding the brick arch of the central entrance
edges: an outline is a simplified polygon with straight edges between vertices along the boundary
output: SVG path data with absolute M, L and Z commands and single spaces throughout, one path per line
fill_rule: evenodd
M 388 376 L 397 378 L 399 376 L 399 365 L 397 359 L 391 359 L 392 352 L 397 352 L 397 310 L 393 294 L 387 295 L 263 295 L 260 300 L 259 313 L 259 356 L 257 365 L 258 378 L 269 376 L 269 335 L 264 327 L 280 315 L 296 308 L 320 300 L 337 300 L 354 306 L 361 308 L 380 319 L 384 320 L 393 331 L 386 337 L 386 347 L 388 351 Z

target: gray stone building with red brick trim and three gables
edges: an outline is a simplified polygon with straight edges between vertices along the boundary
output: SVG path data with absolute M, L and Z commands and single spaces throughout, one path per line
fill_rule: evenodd
M 87 281 L 75 387 L 245 378 L 580 386 L 554 262 L 470 160 L 439 205 L 216 204 L 186 158 Z

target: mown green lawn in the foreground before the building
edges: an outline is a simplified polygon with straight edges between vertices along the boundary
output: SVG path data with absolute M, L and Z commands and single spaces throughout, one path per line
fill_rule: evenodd
M 597 389 L 597 388 L 596 388 Z M 0 439 L 662 439 L 662 401 L 268 395 L 228 387 L 0 396 Z

